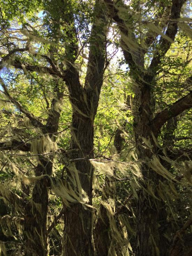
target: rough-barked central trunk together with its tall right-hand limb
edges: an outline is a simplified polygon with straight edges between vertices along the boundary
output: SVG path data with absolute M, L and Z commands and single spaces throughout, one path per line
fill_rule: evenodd
M 73 108 L 71 149 L 74 150 L 74 153 L 69 156 L 72 159 L 94 157 L 94 118 L 103 83 L 105 63 L 104 25 L 106 25 L 106 21 L 99 1 L 95 3 L 95 13 L 95 20 L 91 29 L 89 59 L 84 87 L 79 81 L 78 71 L 71 65 L 68 66 L 65 80 Z M 71 17 L 71 20 L 73 21 L 73 17 Z M 102 23 L 97 23 L 99 20 L 102 20 Z M 73 32 L 76 35 L 75 29 Z M 100 36 L 97 35 L 98 33 Z M 75 51 L 77 54 L 77 45 L 77 43 L 73 42 L 71 44 L 72 48 L 68 49 L 68 53 Z M 79 160 L 75 162 L 75 167 L 79 173 L 81 187 L 88 195 L 88 204 L 91 205 L 93 166 L 89 161 Z M 72 181 L 70 172 L 68 173 L 68 178 L 68 184 L 74 188 L 74 183 L 70 182 L 70 180 Z M 91 208 L 84 207 L 81 203 L 77 202 L 66 208 L 64 213 L 64 237 L 62 240 L 63 256 L 94 255 L 92 218 Z

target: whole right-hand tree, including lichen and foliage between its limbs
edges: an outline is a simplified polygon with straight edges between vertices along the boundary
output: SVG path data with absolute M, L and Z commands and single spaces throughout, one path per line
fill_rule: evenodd
M 192 93 L 189 92 L 158 114 L 155 113 L 154 94 L 156 80 L 161 72 L 160 65 L 178 31 L 178 20 L 184 1 L 158 2 L 157 9 L 155 9 L 156 13 L 154 12 L 154 21 L 148 20 L 150 6 L 147 4 L 144 10 L 138 10 L 143 15 L 140 18 L 135 8 L 137 2 L 133 1 L 131 5 L 127 5 L 123 1 L 105 0 L 105 3 L 109 16 L 113 18 L 119 28 L 121 48 L 133 80 L 134 97 L 131 100 L 134 116 L 133 130 L 136 154 L 138 160 L 141 160 L 140 170 L 142 174 L 139 181 L 140 189 L 136 212 L 136 255 L 166 255 L 167 248 L 163 251 L 163 247 L 160 247 L 162 237 L 160 237 L 158 230 L 158 223 L 162 217 L 160 209 L 165 206 L 162 200 L 160 202 L 156 200 L 158 185 L 163 181 L 162 176 L 165 175 L 161 175 L 156 170 L 156 166 L 160 163 L 156 157 L 159 149 L 156 142 L 162 126 L 168 120 L 192 107 Z M 164 23 L 161 22 L 161 17 L 164 17 Z M 145 25 L 143 27 L 141 25 L 141 31 L 138 33 L 132 28 L 136 22 L 141 24 L 141 19 L 144 20 L 142 22 Z M 161 35 L 160 38 L 159 35 Z M 145 54 L 151 50 L 154 54 L 150 57 L 149 64 L 146 65 Z M 187 63 L 189 63 L 188 60 L 185 64 L 187 65 Z M 154 160 L 153 165 L 150 159 Z M 149 195 L 146 181 L 153 188 L 153 197 Z

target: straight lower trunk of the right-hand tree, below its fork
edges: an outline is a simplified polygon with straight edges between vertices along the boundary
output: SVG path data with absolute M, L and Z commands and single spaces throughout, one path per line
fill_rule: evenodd
M 134 136 L 136 143 L 136 153 L 140 163 L 142 178 L 141 188 L 138 191 L 137 204 L 137 226 L 136 226 L 136 256 L 155 256 L 159 254 L 159 234 L 158 221 L 159 211 L 157 200 L 148 193 L 147 183 L 156 189 L 159 177 L 154 170 L 150 169 L 148 163 L 156 152 L 156 145 L 152 138 L 150 122 L 152 120 L 151 92 L 149 83 L 137 82 L 135 87 L 135 97 L 132 99 L 132 113 L 134 115 Z M 149 148 L 145 142 L 149 141 L 153 149 Z M 143 188 L 142 188 L 143 187 Z M 157 193 L 154 191 L 155 195 Z

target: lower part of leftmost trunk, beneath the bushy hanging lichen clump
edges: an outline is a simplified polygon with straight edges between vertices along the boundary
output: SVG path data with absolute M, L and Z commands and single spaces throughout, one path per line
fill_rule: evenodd
M 51 175 L 52 163 L 38 164 L 36 176 Z M 27 202 L 24 216 L 25 256 L 46 256 L 48 254 L 47 210 L 49 193 L 46 180 L 36 181 L 32 191 L 32 201 Z

